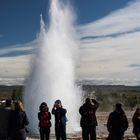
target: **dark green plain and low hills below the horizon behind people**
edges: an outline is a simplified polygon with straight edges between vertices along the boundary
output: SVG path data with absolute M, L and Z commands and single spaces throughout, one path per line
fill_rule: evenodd
M 0 100 L 12 98 L 21 99 L 23 85 L 0 86 Z M 140 106 L 140 86 L 125 85 L 81 85 L 83 101 L 86 97 L 96 98 L 101 111 L 112 109 L 113 105 L 121 102 L 125 109 L 134 109 Z

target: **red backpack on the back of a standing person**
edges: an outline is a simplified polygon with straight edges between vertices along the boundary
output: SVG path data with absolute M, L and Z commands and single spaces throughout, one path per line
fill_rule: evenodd
M 49 113 L 48 112 L 41 112 L 40 114 L 40 127 L 50 127 L 51 122 L 49 120 Z

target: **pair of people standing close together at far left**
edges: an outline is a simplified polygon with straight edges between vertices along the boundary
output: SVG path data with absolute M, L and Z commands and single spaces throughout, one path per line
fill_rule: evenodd
M 0 140 L 25 140 L 28 119 L 21 101 L 6 100 L 5 108 L 0 109 Z

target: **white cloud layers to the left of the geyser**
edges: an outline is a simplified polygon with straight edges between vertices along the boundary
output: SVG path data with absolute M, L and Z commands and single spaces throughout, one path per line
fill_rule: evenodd
M 31 63 L 31 54 L 26 54 L 26 51 L 32 51 L 36 45 L 37 40 L 34 40 L 26 44 L 0 48 L 0 56 L 4 56 L 0 57 L 0 78 L 26 77 L 30 72 Z M 23 52 L 23 54 L 14 56 L 15 52 Z M 12 57 L 8 56 L 9 54 L 13 54 Z

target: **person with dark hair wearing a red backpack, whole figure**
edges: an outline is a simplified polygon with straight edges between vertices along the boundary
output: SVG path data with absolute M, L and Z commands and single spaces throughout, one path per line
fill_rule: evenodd
M 51 127 L 51 113 L 47 103 L 41 103 L 39 107 L 40 112 L 38 113 L 39 120 L 39 132 L 41 140 L 49 140 L 50 138 L 50 127 Z

